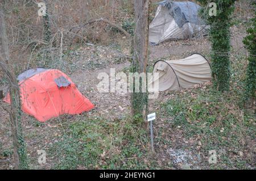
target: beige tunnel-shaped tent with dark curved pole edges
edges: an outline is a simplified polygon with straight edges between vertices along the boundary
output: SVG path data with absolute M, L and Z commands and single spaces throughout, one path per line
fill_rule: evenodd
M 158 78 L 155 73 L 158 73 Z M 194 53 L 181 60 L 155 62 L 153 76 L 148 87 L 154 88 L 154 84 L 158 81 L 159 91 L 181 90 L 198 83 L 208 82 L 210 79 L 211 71 L 208 60 L 201 54 Z

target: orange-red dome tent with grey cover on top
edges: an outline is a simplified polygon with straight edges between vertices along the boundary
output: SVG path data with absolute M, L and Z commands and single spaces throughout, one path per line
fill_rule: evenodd
M 18 77 L 22 110 L 41 122 L 94 108 L 71 79 L 56 69 L 30 69 Z M 10 94 L 3 99 L 10 103 Z

